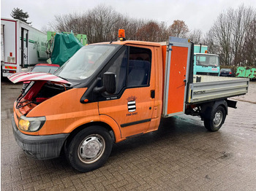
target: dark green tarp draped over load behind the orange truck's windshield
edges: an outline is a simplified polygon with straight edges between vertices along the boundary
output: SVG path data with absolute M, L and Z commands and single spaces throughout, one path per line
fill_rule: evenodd
M 59 66 L 63 65 L 81 47 L 83 47 L 83 44 L 75 38 L 74 34 L 57 33 L 50 57 L 51 63 L 59 64 Z

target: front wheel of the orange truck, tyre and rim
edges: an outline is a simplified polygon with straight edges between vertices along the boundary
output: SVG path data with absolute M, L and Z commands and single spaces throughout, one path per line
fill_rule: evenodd
M 108 160 L 113 139 L 105 128 L 91 126 L 80 130 L 67 143 L 65 154 L 72 168 L 80 172 L 93 171 Z

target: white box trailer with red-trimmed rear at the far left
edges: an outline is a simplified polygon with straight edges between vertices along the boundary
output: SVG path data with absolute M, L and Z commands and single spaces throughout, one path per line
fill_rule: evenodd
M 1 18 L 1 75 L 28 71 L 37 63 L 46 63 L 47 35 L 28 24 Z

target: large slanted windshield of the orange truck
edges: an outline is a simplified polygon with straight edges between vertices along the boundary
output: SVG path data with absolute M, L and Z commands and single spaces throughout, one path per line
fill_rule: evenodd
M 64 79 L 86 79 L 94 74 L 103 61 L 116 46 L 110 44 L 94 44 L 82 47 L 72 56 L 55 75 Z

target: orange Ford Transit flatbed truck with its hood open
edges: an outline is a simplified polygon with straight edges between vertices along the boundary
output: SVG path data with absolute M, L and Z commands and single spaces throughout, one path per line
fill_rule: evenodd
M 162 117 L 192 114 L 208 130 L 221 128 L 227 97 L 247 92 L 249 80 L 193 77 L 193 45 L 118 41 L 90 44 L 50 74 L 15 74 L 31 81 L 14 104 L 18 145 L 37 159 L 59 157 L 78 171 L 108 159 L 113 141 L 157 130 Z

